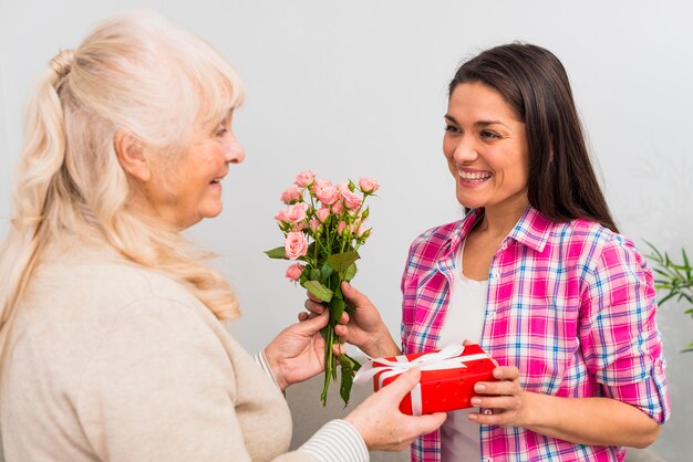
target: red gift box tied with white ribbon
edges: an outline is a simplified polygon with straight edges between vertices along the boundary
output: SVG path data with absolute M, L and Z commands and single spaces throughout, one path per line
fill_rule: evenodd
M 402 413 L 421 416 L 470 408 L 477 381 L 496 380 L 498 363 L 480 346 L 449 345 L 442 350 L 372 359 L 356 375 L 356 382 L 373 377 L 373 389 L 391 384 L 407 369 L 421 369 L 420 382 L 400 403 Z

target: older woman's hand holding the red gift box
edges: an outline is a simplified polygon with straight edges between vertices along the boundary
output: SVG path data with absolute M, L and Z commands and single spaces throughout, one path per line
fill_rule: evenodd
M 400 402 L 416 384 L 421 372 L 411 369 L 392 384 L 371 395 L 344 418 L 356 428 L 371 451 L 402 451 L 416 437 L 431 433 L 443 424 L 445 412 L 430 416 L 406 416 L 400 412 Z

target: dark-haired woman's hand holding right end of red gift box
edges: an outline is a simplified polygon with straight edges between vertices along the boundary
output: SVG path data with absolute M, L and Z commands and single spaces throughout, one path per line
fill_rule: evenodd
M 514 366 L 497 367 L 494 377 L 499 381 L 477 382 L 472 406 L 493 410 L 493 413 L 470 413 L 477 423 L 500 427 L 527 427 L 530 395 L 520 388 L 519 370 Z

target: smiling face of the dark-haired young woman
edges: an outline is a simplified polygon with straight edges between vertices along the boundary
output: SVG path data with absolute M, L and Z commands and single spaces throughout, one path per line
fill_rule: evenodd
M 458 84 L 445 115 L 443 153 L 466 208 L 525 210 L 528 149 L 525 124 L 503 96 L 478 82 Z

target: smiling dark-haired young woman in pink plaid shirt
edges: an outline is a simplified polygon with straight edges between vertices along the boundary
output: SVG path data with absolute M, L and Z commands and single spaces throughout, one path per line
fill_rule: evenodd
M 530 44 L 482 52 L 449 83 L 444 124 L 467 213 L 411 246 L 402 350 L 467 339 L 501 367 L 472 399 L 494 412 L 449 412 L 412 460 L 622 461 L 651 444 L 670 414 L 653 279 L 611 218 L 562 64 Z M 399 354 L 368 298 L 343 293 L 358 309 L 338 335 Z

